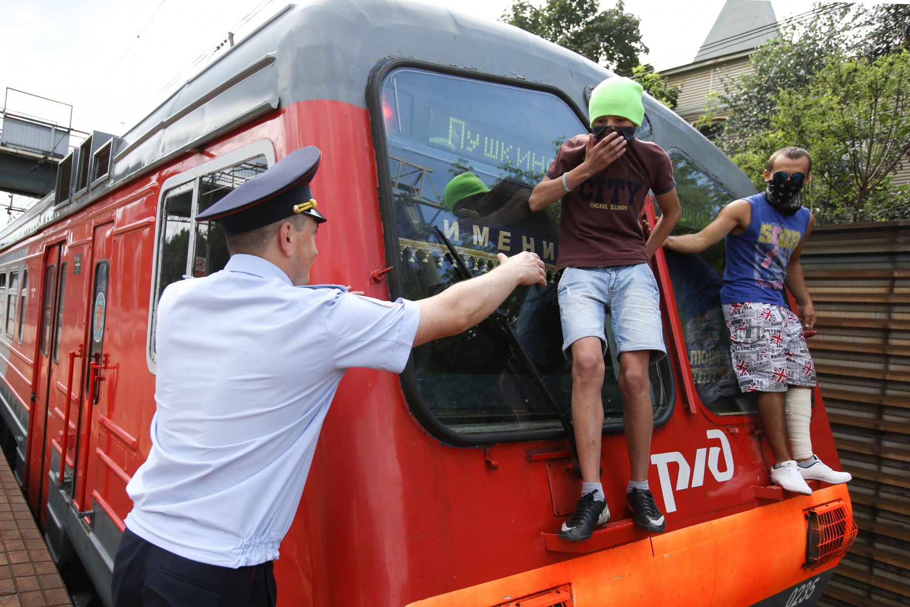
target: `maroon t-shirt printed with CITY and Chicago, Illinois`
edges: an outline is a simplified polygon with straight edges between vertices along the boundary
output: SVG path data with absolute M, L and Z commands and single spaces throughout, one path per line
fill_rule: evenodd
M 547 177 L 581 165 L 590 136 L 562 144 Z M 637 161 L 636 159 L 637 158 Z M 562 196 L 560 253 L 556 267 L 600 268 L 648 263 L 639 213 L 648 190 L 666 194 L 676 187 L 670 157 L 660 146 L 635 138 L 626 152 L 597 175 Z

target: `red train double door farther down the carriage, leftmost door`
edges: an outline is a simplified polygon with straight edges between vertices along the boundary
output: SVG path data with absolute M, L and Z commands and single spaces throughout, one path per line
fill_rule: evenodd
M 44 276 L 41 288 L 41 319 L 38 348 L 35 356 L 35 383 L 32 410 L 28 421 L 28 457 L 25 460 L 25 495 L 32 511 L 43 514 L 45 501 L 45 472 L 50 465 L 50 445 L 47 440 L 47 418 L 55 394 L 58 363 L 54 359 L 54 328 L 60 293 L 62 244 L 45 248 Z

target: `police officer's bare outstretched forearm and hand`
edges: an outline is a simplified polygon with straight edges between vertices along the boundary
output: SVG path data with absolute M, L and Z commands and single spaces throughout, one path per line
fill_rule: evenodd
M 546 285 L 546 270 L 536 253 L 507 258 L 487 274 L 452 285 L 439 295 L 420 299 L 420 324 L 414 346 L 457 335 L 486 319 L 519 285 Z

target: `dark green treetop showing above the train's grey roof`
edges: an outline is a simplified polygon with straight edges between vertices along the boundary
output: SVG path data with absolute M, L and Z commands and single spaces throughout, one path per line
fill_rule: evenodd
M 648 52 L 639 18 L 616 6 L 598 12 L 597 0 L 547 0 L 543 6 L 519 0 L 500 20 L 564 46 L 621 74 L 631 74 Z

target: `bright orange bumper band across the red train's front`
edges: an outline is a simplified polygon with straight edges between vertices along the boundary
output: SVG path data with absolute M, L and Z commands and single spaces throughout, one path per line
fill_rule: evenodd
M 804 567 L 805 511 L 838 500 L 852 519 L 847 488 L 834 485 L 408 607 L 753 605 L 836 565 L 835 559 L 814 571 Z M 567 592 L 571 602 L 560 602 Z

